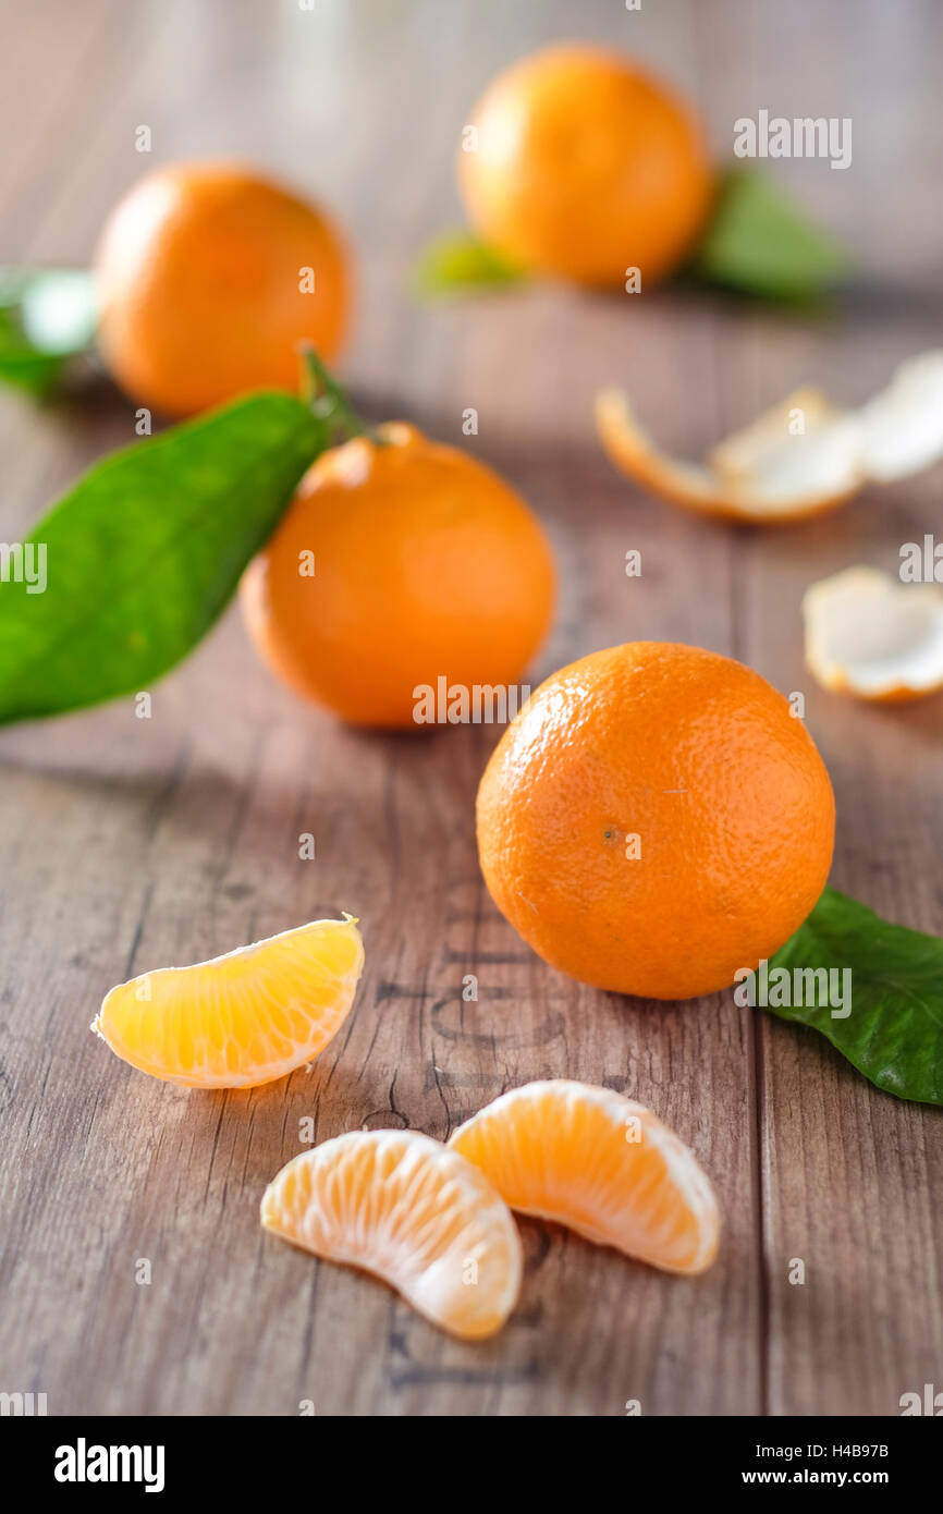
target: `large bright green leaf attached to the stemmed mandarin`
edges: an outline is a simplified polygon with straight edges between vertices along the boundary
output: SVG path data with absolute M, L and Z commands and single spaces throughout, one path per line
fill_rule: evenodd
M 263 392 L 92 468 L 0 556 L 0 722 L 148 689 L 221 613 L 324 439 L 306 404 Z

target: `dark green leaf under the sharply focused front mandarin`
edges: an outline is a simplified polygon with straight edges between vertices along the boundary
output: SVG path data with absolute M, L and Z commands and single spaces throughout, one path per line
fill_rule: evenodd
M 833 1017 L 828 1007 L 767 1007 L 783 1020 L 820 1031 L 885 1093 L 943 1104 L 943 940 L 890 925 L 867 905 L 826 889 L 805 924 L 770 958 L 769 972 L 775 967 L 790 974 L 851 969 L 851 1014 L 845 1019 Z

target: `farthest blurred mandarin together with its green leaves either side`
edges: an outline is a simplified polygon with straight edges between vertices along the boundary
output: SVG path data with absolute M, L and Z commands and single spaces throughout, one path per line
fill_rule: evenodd
M 504 68 L 465 118 L 457 180 L 472 232 L 425 248 L 425 294 L 528 274 L 643 294 L 678 276 L 807 301 L 849 273 L 764 174 L 714 164 L 692 101 L 616 48 L 556 42 Z

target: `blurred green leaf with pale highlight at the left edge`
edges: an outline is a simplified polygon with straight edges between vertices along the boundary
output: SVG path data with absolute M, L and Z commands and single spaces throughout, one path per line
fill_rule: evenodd
M 47 395 L 95 335 L 92 276 L 77 268 L 0 269 L 0 380 Z

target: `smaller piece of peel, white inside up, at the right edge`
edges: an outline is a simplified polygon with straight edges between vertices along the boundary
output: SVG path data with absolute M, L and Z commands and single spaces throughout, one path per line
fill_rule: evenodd
M 919 699 L 943 689 L 943 593 L 876 568 L 807 589 L 805 662 L 825 689 L 858 699 Z

